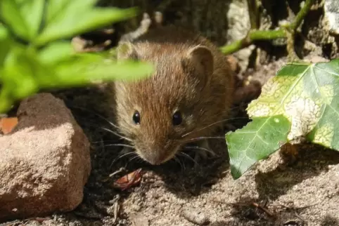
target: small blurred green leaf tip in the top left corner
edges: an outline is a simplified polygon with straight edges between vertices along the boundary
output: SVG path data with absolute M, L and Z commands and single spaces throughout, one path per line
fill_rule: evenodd
M 20 38 L 30 39 L 30 30 L 27 27 L 27 22 L 21 15 L 20 8 L 16 1 L 1 0 L 0 1 L 0 17 L 6 26 Z

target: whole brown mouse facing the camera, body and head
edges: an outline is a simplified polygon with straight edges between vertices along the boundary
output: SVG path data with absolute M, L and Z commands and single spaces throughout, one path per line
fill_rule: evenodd
M 165 163 L 193 141 L 198 153 L 209 149 L 203 137 L 222 125 L 234 95 L 234 72 L 217 46 L 188 29 L 157 27 L 122 42 L 117 59 L 155 66 L 148 79 L 114 83 L 117 127 L 141 159 Z

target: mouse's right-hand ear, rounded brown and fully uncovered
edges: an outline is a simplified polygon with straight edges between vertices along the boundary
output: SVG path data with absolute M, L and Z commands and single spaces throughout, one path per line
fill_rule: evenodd
M 198 45 L 190 48 L 181 63 L 183 69 L 188 74 L 193 72 L 194 77 L 197 77 L 203 86 L 205 86 L 208 77 L 213 73 L 213 55 L 206 46 Z

